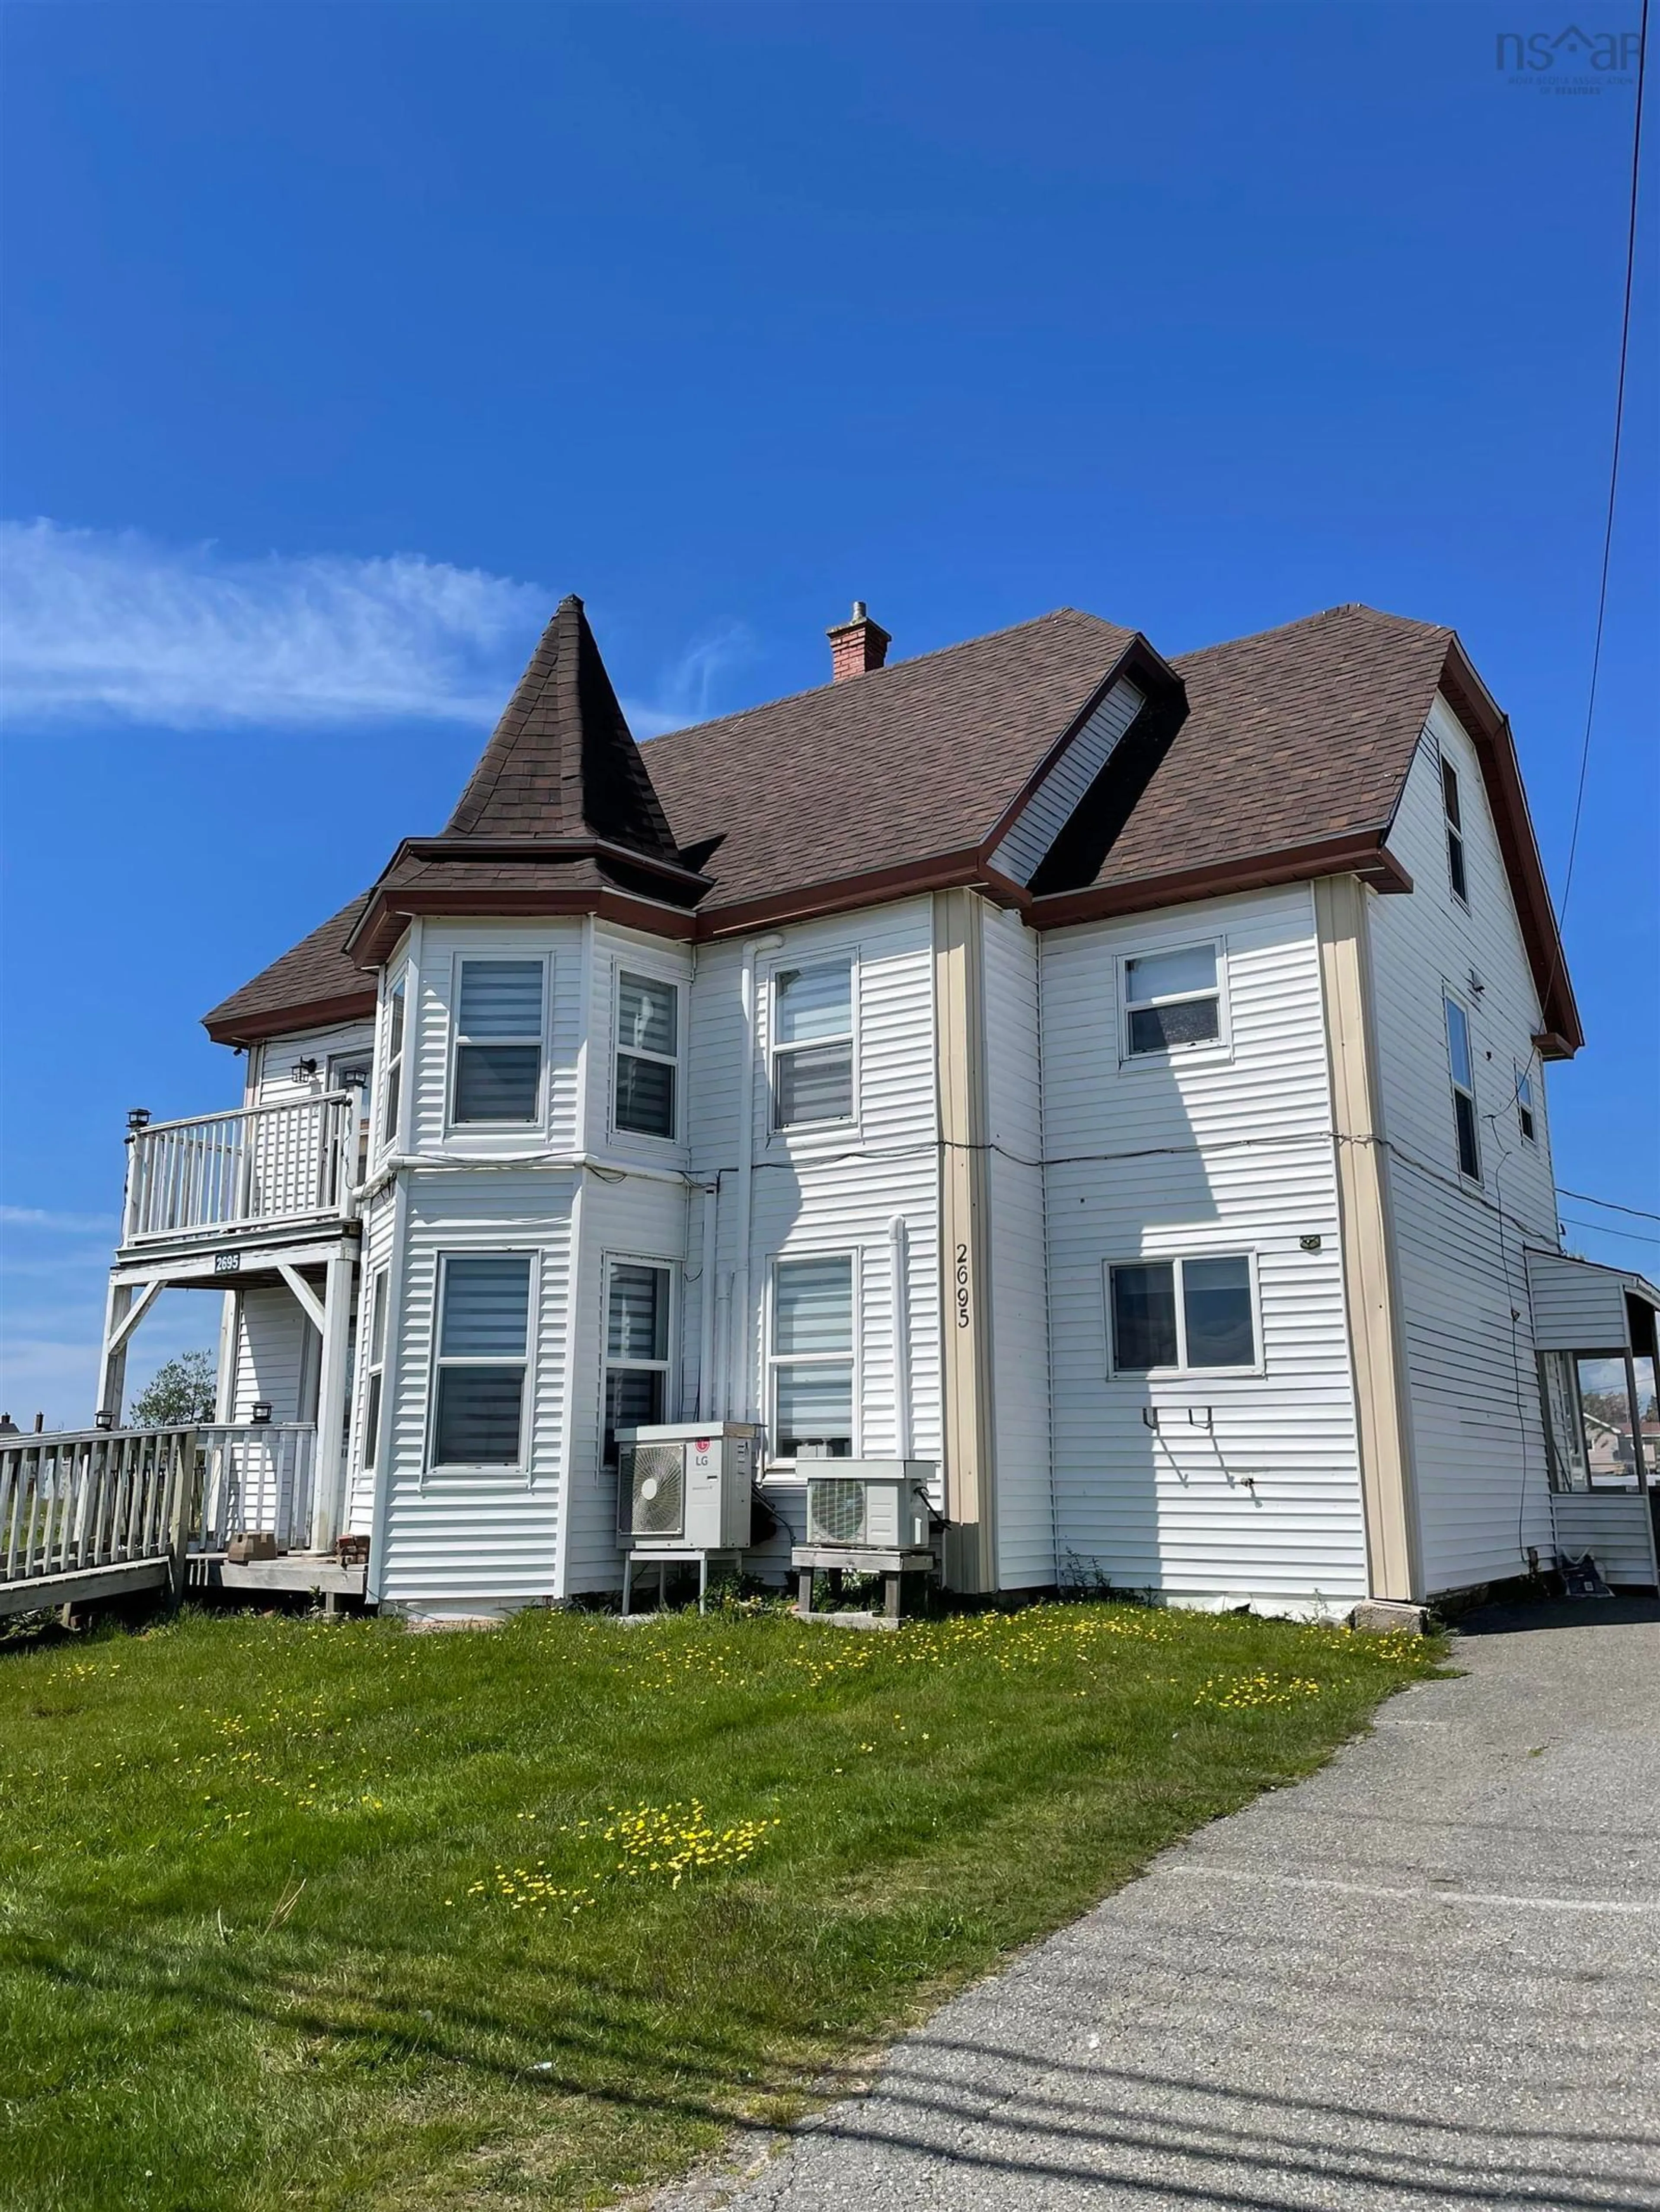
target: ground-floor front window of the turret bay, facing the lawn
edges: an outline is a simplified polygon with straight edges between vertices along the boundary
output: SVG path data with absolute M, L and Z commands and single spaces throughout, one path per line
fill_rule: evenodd
M 520 1467 L 531 1254 L 445 1252 L 438 1281 L 432 1464 Z

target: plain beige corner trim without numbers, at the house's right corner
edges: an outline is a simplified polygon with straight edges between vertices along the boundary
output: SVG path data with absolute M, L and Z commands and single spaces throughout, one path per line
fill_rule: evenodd
M 1423 1595 L 1423 1571 L 1412 1409 L 1401 1340 L 1390 1157 L 1383 1146 L 1377 1075 L 1368 896 L 1359 876 L 1315 880 L 1368 1588 L 1372 1597 L 1417 1599 Z

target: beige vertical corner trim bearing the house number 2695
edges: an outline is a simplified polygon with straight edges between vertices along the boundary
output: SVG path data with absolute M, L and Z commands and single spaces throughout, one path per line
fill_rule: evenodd
M 974 891 L 934 891 L 945 1513 L 952 1524 L 945 1575 L 954 1590 L 996 1588 L 983 918 Z

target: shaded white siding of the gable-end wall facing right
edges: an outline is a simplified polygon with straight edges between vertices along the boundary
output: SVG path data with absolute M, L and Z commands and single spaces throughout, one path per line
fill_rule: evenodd
M 1448 880 L 1441 763 L 1459 776 L 1470 898 Z M 1408 1400 L 1428 1590 L 1527 1571 L 1552 1520 L 1525 1252 L 1556 1248 L 1534 987 L 1476 748 L 1436 701 L 1390 852 L 1412 876 L 1370 900 L 1383 1130 L 1401 1274 Z M 1470 973 L 1483 982 L 1476 995 Z M 1470 1015 L 1483 1186 L 1459 1175 L 1443 991 Z M 1516 1066 L 1536 1086 L 1536 1144 L 1512 1106 Z M 1512 1321 L 1518 1314 L 1518 1321 Z

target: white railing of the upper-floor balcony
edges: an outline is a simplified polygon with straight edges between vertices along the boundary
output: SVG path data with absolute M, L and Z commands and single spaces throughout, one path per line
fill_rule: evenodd
M 128 1139 L 122 1243 L 212 1237 L 352 1210 L 359 1102 L 350 1091 L 151 1121 Z

